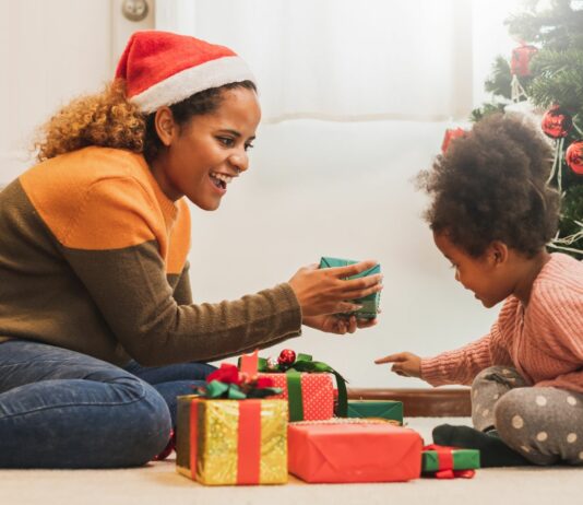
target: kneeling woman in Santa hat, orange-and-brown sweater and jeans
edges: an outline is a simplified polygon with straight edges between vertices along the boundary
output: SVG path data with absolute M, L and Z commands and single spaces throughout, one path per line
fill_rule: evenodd
M 186 200 L 219 207 L 260 115 L 230 49 L 139 32 L 111 85 L 47 124 L 40 163 L 0 192 L 0 468 L 143 465 L 168 443 L 176 397 L 213 369 L 195 362 L 302 324 L 374 324 L 334 316 L 381 290 L 380 275 L 344 280 L 373 261 L 192 303 Z

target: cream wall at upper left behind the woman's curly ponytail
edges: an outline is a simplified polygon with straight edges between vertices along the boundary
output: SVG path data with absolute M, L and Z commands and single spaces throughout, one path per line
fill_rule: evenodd
M 100 90 L 129 35 L 153 26 L 126 20 L 121 0 L 0 0 L 0 185 L 29 166 L 35 129 Z

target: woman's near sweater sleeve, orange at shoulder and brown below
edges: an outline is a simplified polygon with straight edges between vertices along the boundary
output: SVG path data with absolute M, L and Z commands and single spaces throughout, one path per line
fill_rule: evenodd
M 142 212 L 152 202 L 139 185 L 124 183 L 124 190 L 117 192 L 105 184 L 94 185 L 84 209 L 102 209 L 109 221 L 124 223 L 127 234 L 144 239 L 103 249 L 63 246 L 63 256 L 130 356 L 143 365 L 217 360 L 300 334 L 301 310 L 287 283 L 231 302 L 178 304 L 166 279 L 156 232 Z M 131 199 L 127 198 L 130 192 Z M 106 214 L 109 211 L 111 215 Z M 70 244 L 80 243 L 87 233 L 91 220 L 82 214 L 83 210 L 76 221 L 85 223 L 84 230 L 71 227 Z M 95 226 L 92 243 L 99 243 L 97 233 Z M 104 243 L 107 239 L 103 237 Z

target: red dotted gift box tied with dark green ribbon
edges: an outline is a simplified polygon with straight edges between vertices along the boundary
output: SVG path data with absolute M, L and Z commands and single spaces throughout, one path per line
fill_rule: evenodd
M 273 387 L 283 389 L 281 395 L 270 398 L 288 400 L 286 374 L 262 373 L 259 376 L 271 378 Z M 334 416 L 334 385 L 332 377 L 332 374 L 300 374 L 304 420 L 319 421 Z

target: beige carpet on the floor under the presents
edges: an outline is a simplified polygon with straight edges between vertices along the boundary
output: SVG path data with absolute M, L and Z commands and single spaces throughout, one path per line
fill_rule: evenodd
M 412 418 L 430 442 L 436 424 L 466 419 Z M 0 470 L 0 504 L 107 505 L 291 505 L 395 504 L 496 505 L 581 503 L 583 468 L 505 468 L 478 470 L 471 480 L 418 479 L 386 484 L 305 484 L 205 488 L 175 471 L 174 459 L 131 470 Z

